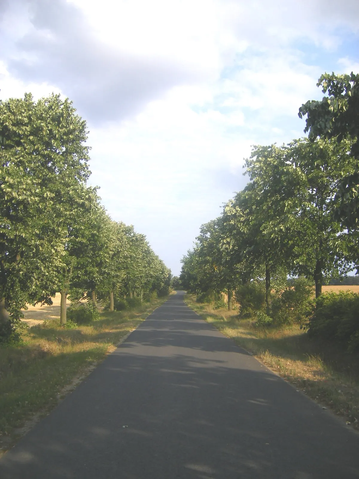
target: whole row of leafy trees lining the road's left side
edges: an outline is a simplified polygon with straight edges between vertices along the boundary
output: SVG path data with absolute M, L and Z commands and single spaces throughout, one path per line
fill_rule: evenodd
M 59 95 L 0 102 L 0 336 L 26 303 L 164 291 L 170 271 L 132 226 L 112 221 L 86 182 L 86 123 Z

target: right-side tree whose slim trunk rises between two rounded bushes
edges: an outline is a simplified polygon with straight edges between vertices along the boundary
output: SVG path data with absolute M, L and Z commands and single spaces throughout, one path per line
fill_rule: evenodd
M 284 152 L 276 145 L 255 146 L 246 160 L 251 181 L 232 204 L 236 230 L 241 231 L 237 249 L 252 279 L 259 275 L 265 280 L 267 312 L 272 278 L 289 269 L 293 246 L 290 212 L 297 202 L 298 171 L 286 163 Z

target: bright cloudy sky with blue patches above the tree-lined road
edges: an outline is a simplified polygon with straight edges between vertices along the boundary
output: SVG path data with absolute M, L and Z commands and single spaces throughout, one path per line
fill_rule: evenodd
M 251 145 L 302 137 L 322 73 L 359 73 L 359 1 L 0 0 L 0 99 L 52 92 L 89 129 L 90 184 L 180 272 L 247 183 Z

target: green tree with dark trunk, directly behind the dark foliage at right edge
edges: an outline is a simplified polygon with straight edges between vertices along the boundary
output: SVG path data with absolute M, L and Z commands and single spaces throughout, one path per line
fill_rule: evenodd
M 333 215 L 339 185 L 356 168 L 350 148 L 351 142 L 344 139 L 337 143 L 302 138 L 289 144 L 285 153 L 288 164 L 301 172 L 291 270 L 314 279 L 315 297 L 322 292 L 325 275 L 337 276 L 351 269 L 349 255 L 355 235 L 344 233 Z

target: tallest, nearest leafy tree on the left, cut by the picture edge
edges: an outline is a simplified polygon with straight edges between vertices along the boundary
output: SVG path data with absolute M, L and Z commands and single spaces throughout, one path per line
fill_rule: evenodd
M 0 102 L 0 322 L 51 303 L 70 192 L 89 176 L 86 123 L 59 95 Z

